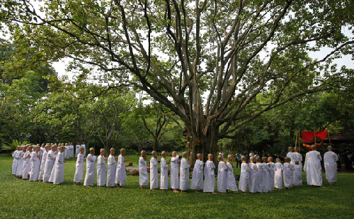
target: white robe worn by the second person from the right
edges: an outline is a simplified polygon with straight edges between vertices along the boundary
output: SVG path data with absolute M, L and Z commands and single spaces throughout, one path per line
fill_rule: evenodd
M 322 157 L 319 152 L 307 152 L 304 171 L 306 172 L 307 184 L 312 186 L 322 186 Z

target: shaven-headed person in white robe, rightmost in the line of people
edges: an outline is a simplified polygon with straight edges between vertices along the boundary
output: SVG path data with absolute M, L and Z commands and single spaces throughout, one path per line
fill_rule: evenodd
M 337 161 L 338 156 L 333 152 L 331 145 L 327 147 L 328 152 L 324 153 L 324 169 L 326 170 L 326 179 L 332 186 L 334 183 L 337 185 Z

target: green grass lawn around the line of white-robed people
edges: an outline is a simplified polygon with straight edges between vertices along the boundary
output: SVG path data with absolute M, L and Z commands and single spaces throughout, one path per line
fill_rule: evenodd
M 126 158 L 137 165 L 139 157 Z M 212 195 L 142 191 L 139 176 L 127 176 L 124 189 L 72 186 L 73 158 L 62 185 L 16 181 L 11 165 L 10 155 L 0 155 L 0 218 L 354 218 L 354 174 L 338 174 L 338 186 L 323 175 L 321 188 Z

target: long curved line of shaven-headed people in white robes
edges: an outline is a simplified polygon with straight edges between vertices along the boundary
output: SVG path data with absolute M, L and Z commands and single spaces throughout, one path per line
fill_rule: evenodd
M 79 144 L 78 144 L 79 145 Z M 42 150 L 44 148 L 44 152 Z M 73 147 L 74 148 L 74 147 Z M 52 182 L 53 184 L 62 184 L 64 181 L 64 163 L 67 157 L 74 156 L 74 150 L 67 149 L 64 144 L 57 145 L 39 145 L 18 146 L 13 153 L 12 174 L 16 178 L 29 179 L 30 181 L 43 181 L 43 183 Z M 40 152 L 42 150 L 42 152 Z M 249 157 L 247 163 L 246 157 L 241 156 L 241 175 L 239 186 L 236 185 L 236 179 L 233 169 L 233 157 L 227 156 L 227 162 L 224 157 L 217 157 L 217 191 L 225 193 L 227 191 L 239 191 L 246 193 L 273 192 L 274 188 L 282 189 L 284 181 L 285 189 L 292 189 L 292 186 L 302 185 L 302 155 L 292 147 L 289 147 L 285 162 L 277 158 L 273 163 L 273 157 Z M 324 164 L 326 169 L 326 179 L 332 185 L 336 183 L 336 160 L 338 156 L 332 152 L 332 147 L 328 147 L 329 152 L 324 154 Z M 97 186 L 115 187 L 115 184 L 121 188 L 125 186 L 127 179 L 125 169 L 125 149 L 120 150 L 120 155 L 115 156 L 115 149 L 110 149 L 110 155 L 105 157 L 105 150 L 100 150 L 100 155 L 95 156 L 95 150 L 90 149 L 89 155 L 85 158 L 85 147 L 78 147 L 76 154 L 76 169 L 74 174 L 74 186 L 81 184 L 84 179 L 84 162 L 86 161 L 86 176 L 84 186 L 93 186 L 97 172 Z M 215 163 L 213 155 L 208 155 L 207 162 L 203 162 L 201 154 L 197 155 L 192 180 L 189 184 L 190 161 L 187 161 L 188 152 L 183 152 L 180 159 L 177 152 L 172 152 L 170 161 L 166 161 L 166 152 L 161 152 L 161 157 L 157 158 L 157 152 L 152 152 L 150 159 L 150 176 L 147 172 L 147 152 L 142 151 L 139 157 L 139 186 L 149 185 L 150 189 L 167 190 L 171 189 L 178 193 L 180 190 L 184 193 L 187 189 L 206 193 L 215 193 Z M 261 163 L 261 160 L 263 161 Z M 304 162 L 304 172 L 307 173 L 307 184 L 313 186 L 322 186 L 321 176 L 322 157 L 312 147 L 311 152 L 307 152 Z M 97 162 L 96 162 L 97 161 Z M 97 163 L 97 167 L 96 167 Z M 107 166 L 106 166 L 107 163 Z M 158 165 L 160 164 L 161 174 L 159 180 Z M 170 181 L 169 181 L 169 165 Z

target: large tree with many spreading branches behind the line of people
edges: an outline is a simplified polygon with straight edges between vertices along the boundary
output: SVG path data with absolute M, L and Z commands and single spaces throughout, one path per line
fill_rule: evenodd
M 108 89 L 135 86 L 169 108 L 193 155 L 215 152 L 265 111 L 337 86 L 341 71 L 321 74 L 324 62 L 354 43 L 341 32 L 353 26 L 350 0 L 0 2 L 1 21 L 38 58 L 70 57 L 81 74 L 101 72 Z M 322 47 L 331 52 L 319 60 L 286 59 Z M 283 98 L 307 69 L 316 83 Z M 264 91 L 270 101 L 248 109 Z

